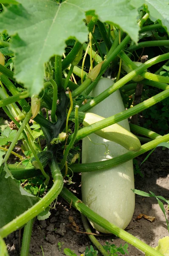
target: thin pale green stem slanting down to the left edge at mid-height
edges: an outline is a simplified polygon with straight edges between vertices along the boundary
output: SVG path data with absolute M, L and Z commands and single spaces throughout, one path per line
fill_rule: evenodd
M 12 143 L 11 143 L 9 149 L 8 149 L 8 152 L 6 153 L 6 155 L 5 155 L 4 159 L 3 159 L 3 163 L 6 163 L 6 161 L 8 160 L 8 157 L 10 156 L 12 149 L 14 148 L 15 144 L 19 140 L 19 137 L 22 134 L 23 129 L 25 128 L 25 126 L 28 123 L 29 119 L 31 118 L 31 115 L 32 115 L 32 113 L 31 113 L 31 111 L 29 111 L 27 113 L 27 115 L 25 116 L 25 119 L 23 120 L 22 125 L 20 126 L 19 130 L 17 131 L 17 134 L 14 137 L 14 140 L 12 141 Z

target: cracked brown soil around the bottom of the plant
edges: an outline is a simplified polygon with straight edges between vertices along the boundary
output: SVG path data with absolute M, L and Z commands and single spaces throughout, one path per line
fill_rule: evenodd
M 138 157 L 138 163 L 141 163 L 146 155 L 147 153 Z M 140 175 L 135 175 L 136 189 L 140 189 L 145 192 L 152 191 L 155 195 L 161 195 L 164 198 L 169 199 L 168 149 L 162 150 L 162 148 L 156 148 L 148 160 L 141 165 L 141 172 L 144 174 L 144 178 Z M 73 179 L 76 180 L 76 182 L 71 185 L 72 189 L 76 187 L 75 194 L 78 198 L 81 198 L 80 175 L 74 175 Z M 164 204 L 164 206 L 166 208 L 166 216 L 169 219 L 167 205 Z M 154 216 L 155 221 L 150 222 L 144 218 L 136 221 L 136 217 L 141 213 Z M 36 220 L 34 223 L 30 245 L 31 256 L 42 256 L 40 246 L 42 246 L 45 256 L 63 256 L 65 255 L 63 253 L 64 248 L 74 250 L 78 256 L 80 256 L 81 253 L 84 253 L 86 246 L 89 247 L 91 244 L 90 240 L 86 234 L 77 233 L 72 229 L 72 227 L 70 227 L 70 223 L 68 221 L 69 216 L 73 216 L 76 224 L 79 226 L 79 230 L 85 231 L 79 212 L 72 207 L 70 209 L 70 206 L 59 197 L 56 206 L 51 211 L 50 218 L 45 221 Z M 19 231 L 16 231 L 10 234 L 6 239 L 10 256 L 19 255 L 22 232 L 19 233 Z M 93 230 L 93 232 L 95 232 L 95 230 Z M 165 217 L 155 198 L 145 198 L 139 195 L 135 196 L 135 212 L 132 221 L 127 227 L 127 232 L 152 247 L 158 245 L 159 239 L 164 236 L 168 236 Z M 105 241 L 109 241 L 115 245 L 124 244 L 124 241 L 113 235 L 99 236 L 97 238 L 103 245 L 105 244 Z M 60 249 L 58 247 L 58 242 L 63 243 Z M 140 252 L 132 245 L 129 245 L 128 251 L 129 256 L 144 255 L 144 253 Z

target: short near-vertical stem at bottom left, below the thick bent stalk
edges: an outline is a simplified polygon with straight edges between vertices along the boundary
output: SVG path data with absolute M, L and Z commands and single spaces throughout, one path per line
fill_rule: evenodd
M 28 256 L 33 224 L 34 218 L 28 221 L 24 227 L 20 256 Z

